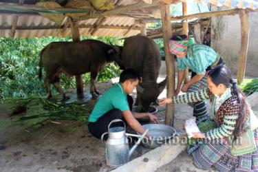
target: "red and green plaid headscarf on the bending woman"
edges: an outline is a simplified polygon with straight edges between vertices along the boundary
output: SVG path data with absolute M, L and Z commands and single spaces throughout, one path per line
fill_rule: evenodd
M 180 38 L 180 37 L 179 37 Z M 180 38 L 181 39 L 181 38 Z M 171 54 L 178 54 L 179 52 L 184 52 L 188 45 L 192 45 L 193 41 L 189 38 L 180 40 L 180 41 L 169 41 L 169 52 Z

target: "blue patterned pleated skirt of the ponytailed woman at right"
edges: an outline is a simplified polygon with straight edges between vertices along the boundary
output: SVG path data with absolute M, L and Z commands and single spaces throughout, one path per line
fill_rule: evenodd
M 254 136 L 258 148 L 258 129 Z M 191 151 L 195 165 L 200 169 L 215 166 L 219 171 L 258 171 L 258 150 L 236 157 L 231 155 L 226 140 L 198 142 Z

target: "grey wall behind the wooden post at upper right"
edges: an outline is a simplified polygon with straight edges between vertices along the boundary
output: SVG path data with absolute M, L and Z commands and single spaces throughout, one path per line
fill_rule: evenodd
M 250 36 L 246 76 L 258 77 L 258 12 L 250 13 L 249 19 Z M 241 46 L 239 15 L 213 17 L 211 22 L 211 46 L 222 55 L 226 65 L 236 74 Z

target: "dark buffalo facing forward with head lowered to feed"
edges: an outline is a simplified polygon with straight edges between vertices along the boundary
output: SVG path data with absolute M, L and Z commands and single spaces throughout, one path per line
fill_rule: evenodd
M 140 100 L 138 104 L 147 111 L 166 86 L 166 79 L 157 83 L 161 65 L 158 45 L 147 36 L 131 36 L 125 39 L 122 56 L 116 62 L 122 69 L 136 69 L 142 76 L 142 83 L 137 87 L 137 97 Z

